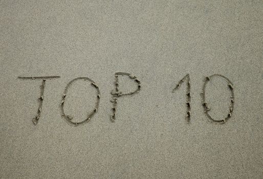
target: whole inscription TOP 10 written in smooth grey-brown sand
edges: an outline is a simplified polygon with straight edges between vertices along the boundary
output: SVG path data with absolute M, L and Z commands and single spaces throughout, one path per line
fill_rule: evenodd
M 137 89 L 135 91 L 133 91 L 133 92 L 122 93 L 120 91 L 120 89 L 119 89 L 119 76 L 120 75 L 128 76 L 129 78 L 133 79 L 134 82 L 137 84 Z M 206 85 L 214 77 L 223 78 L 226 81 L 226 83 L 228 85 L 228 88 L 229 88 L 229 90 L 231 92 L 228 115 L 225 118 L 223 118 L 222 120 L 215 120 L 209 115 L 210 108 L 209 108 L 208 103 L 206 102 L 206 95 L 205 95 L 206 94 Z M 38 123 L 38 121 L 39 121 L 39 119 L 41 117 L 41 109 L 42 109 L 42 103 L 43 103 L 43 100 L 44 100 L 44 91 L 45 91 L 46 81 L 47 80 L 51 80 L 51 79 L 57 79 L 57 78 L 60 78 L 60 77 L 59 76 L 18 77 L 18 79 L 41 80 L 40 95 L 38 97 L 37 113 L 36 113 L 36 116 L 32 120 L 35 125 Z M 111 95 L 112 95 L 111 102 L 113 103 L 113 106 L 112 106 L 112 115 L 111 115 L 110 119 L 111 119 L 112 122 L 115 122 L 115 120 L 116 120 L 116 110 L 117 110 L 118 98 L 135 95 L 135 94 L 139 93 L 140 90 L 141 90 L 141 81 L 133 74 L 117 72 L 117 73 L 115 73 L 114 78 L 115 78 L 115 80 L 114 80 L 115 88 L 111 92 Z M 87 117 L 83 121 L 73 122 L 73 117 L 71 117 L 70 115 L 65 114 L 64 104 L 65 104 L 66 99 L 67 99 L 68 89 L 74 84 L 74 82 L 79 81 L 79 80 L 91 83 L 91 85 L 96 89 L 96 92 L 97 92 L 96 93 L 96 98 L 97 98 L 97 100 L 96 100 L 94 109 L 88 113 Z M 191 83 L 190 83 L 190 76 L 189 76 L 189 74 L 185 75 L 178 82 L 176 87 L 174 87 L 172 89 L 172 92 L 176 92 L 177 89 L 179 89 L 181 84 L 184 83 L 184 82 L 186 83 L 186 86 L 187 86 L 187 88 L 186 88 L 186 121 L 187 121 L 187 123 L 189 123 L 190 120 L 191 120 Z M 233 113 L 233 108 L 234 108 L 234 88 L 233 88 L 233 83 L 227 77 L 225 77 L 223 75 L 220 75 L 220 74 L 214 74 L 214 75 L 211 75 L 209 77 L 205 77 L 201 96 L 202 96 L 202 105 L 204 107 L 204 114 L 208 117 L 208 120 L 210 122 L 217 123 L 217 124 L 224 124 L 225 122 L 228 121 L 229 118 L 231 118 L 232 113 Z M 75 78 L 75 79 L 71 80 L 67 84 L 65 89 L 64 89 L 64 93 L 62 95 L 62 99 L 61 99 L 61 102 L 60 102 L 61 116 L 69 124 L 72 124 L 73 126 L 78 126 L 80 124 L 84 124 L 86 122 L 89 122 L 92 119 L 92 117 L 98 112 L 99 102 L 100 102 L 100 90 L 99 90 L 98 84 L 96 82 L 94 82 L 92 79 L 88 78 L 88 77 Z

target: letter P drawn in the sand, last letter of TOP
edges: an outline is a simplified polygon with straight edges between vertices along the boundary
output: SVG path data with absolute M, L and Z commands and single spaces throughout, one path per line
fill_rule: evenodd
M 136 91 L 126 93 L 126 94 L 123 94 L 122 92 L 120 92 L 119 91 L 119 79 L 118 79 L 119 75 L 126 75 L 126 76 L 129 76 L 131 79 L 134 79 L 138 84 Z M 112 108 L 113 114 L 111 115 L 111 121 L 112 122 L 115 122 L 115 120 L 116 120 L 117 98 L 122 97 L 122 96 L 131 96 L 131 95 L 134 95 L 136 93 L 139 93 L 139 91 L 141 90 L 141 82 L 139 81 L 139 79 L 136 76 L 129 74 L 129 73 L 116 72 L 114 84 L 115 84 L 115 91 L 113 90 L 111 92 L 111 94 L 112 94 L 111 102 L 113 103 L 113 108 Z

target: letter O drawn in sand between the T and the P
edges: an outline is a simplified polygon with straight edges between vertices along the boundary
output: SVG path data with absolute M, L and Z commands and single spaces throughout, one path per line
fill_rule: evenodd
M 94 86 L 96 89 L 97 89 L 97 101 L 96 101 L 96 104 L 95 104 L 95 108 L 94 110 L 92 110 L 92 112 L 90 114 L 87 115 L 87 118 L 81 122 L 73 122 L 73 117 L 69 116 L 69 115 L 65 115 L 64 113 L 64 103 L 65 103 L 65 99 L 67 97 L 67 93 L 68 93 L 68 89 L 69 87 L 72 85 L 73 82 L 77 81 L 77 80 L 80 80 L 80 79 L 84 79 L 84 80 L 87 80 L 87 81 L 90 81 L 91 82 L 91 85 Z M 91 118 L 95 115 L 95 113 L 98 111 L 98 108 L 99 108 L 99 102 L 100 102 L 100 91 L 99 91 L 99 86 L 93 81 L 91 80 L 90 78 L 87 78 L 87 77 L 78 77 L 78 78 L 75 78 L 73 80 L 71 80 L 67 86 L 65 87 L 65 90 L 64 90 L 64 93 L 62 95 L 62 100 L 61 100 L 61 103 L 60 103 L 60 109 L 61 109 L 61 113 L 62 113 L 62 117 L 64 117 L 64 119 L 69 122 L 69 124 L 72 124 L 74 126 L 78 126 L 80 124 L 84 124 L 86 122 L 89 122 L 91 120 Z

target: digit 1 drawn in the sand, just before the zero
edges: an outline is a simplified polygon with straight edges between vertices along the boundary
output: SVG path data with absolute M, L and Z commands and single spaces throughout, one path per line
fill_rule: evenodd
M 190 84 L 190 76 L 189 74 L 185 75 L 183 79 L 179 81 L 179 83 L 176 85 L 174 89 L 172 89 L 172 93 L 174 93 L 177 89 L 180 88 L 181 84 L 187 80 L 187 88 L 186 88 L 186 106 L 187 106 L 187 111 L 186 111 L 186 121 L 189 123 L 191 119 L 191 84 Z

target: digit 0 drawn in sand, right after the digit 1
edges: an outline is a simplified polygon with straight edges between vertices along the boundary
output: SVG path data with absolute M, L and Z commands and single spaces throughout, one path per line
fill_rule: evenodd
M 230 92 L 231 92 L 231 97 L 230 97 L 230 106 L 229 106 L 229 113 L 227 115 L 227 117 L 223 120 L 214 120 L 209 114 L 208 114 L 208 111 L 210 111 L 210 108 L 208 107 L 207 105 L 207 102 L 206 102 L 206 97 L 205 97 L 205 89 L 206 89 L 206 85 L 208 83 L 208 81 L 210 81 L 213 77 L 222 77 L 225 81 L 227 81 L 228 83 L 228 87 L 230 89 Z M 233 83 L 225 76 L 223 75 L 220 75 L 220 74 L 214 74 L 214 75 L 211 75 L 209 77 L 206 77 L 205 78 L 205 82 L 204 82 L 204 85 L 203 85 L 203 88 L 202 88 L 202 93 L 201 93 L 201 97 L 202 97 L 202 105 L 204 107 L 204 113 L 206 114 L 206 116 L 209 118 L 210 122 L 214 122 L 214 123 L 218 123 L 218 124 L 224 124 L 229 118 L 232 117 L 232 113 L 233 113 L 233 109 L 234 109 L 234 87 L 233 87 Z

